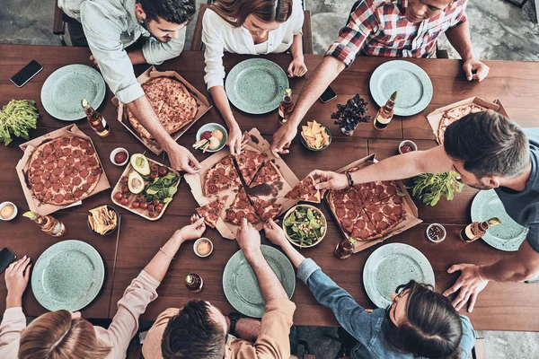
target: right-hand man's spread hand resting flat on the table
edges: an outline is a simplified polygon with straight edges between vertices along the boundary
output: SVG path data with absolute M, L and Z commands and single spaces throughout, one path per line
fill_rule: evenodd
M 460 293 L 453 301 L 453 306 L 457 311 L 460 311 L 469 300 L 468 312 L 471 313 L 477 300 L 477 295 L 485 289 L 489 281 L 482 277 L 479 266 L 464 263 L 455 264 L 447 269 L 447 273 L 454 273 L 457 270 L 461 271 L 461 275 L 456 280 L 455 285 L 444 292 L 444 295 L 448 296 L 460 290 Z

